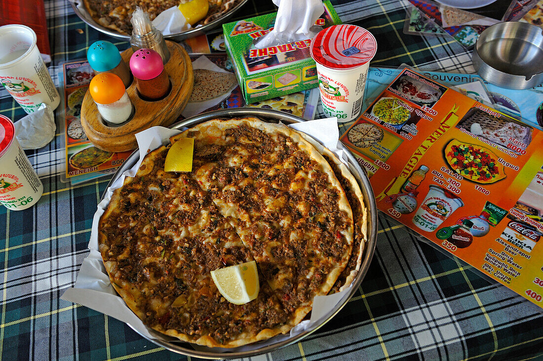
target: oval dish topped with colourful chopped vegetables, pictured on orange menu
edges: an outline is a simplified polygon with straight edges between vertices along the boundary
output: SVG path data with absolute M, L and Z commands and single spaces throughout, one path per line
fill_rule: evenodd
M 503 164 L 490 150 L 480 145 L 453 139 L 444 149 L 445 160 L 456 173 L 477 183 L 494 183 L 506 178 Z

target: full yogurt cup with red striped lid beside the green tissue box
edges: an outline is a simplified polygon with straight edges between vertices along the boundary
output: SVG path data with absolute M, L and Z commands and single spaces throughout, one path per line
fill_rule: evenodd
M 340 123 L 358 117 L 370 60 L 377 52 L 375 37 L 355 25 L 334 25 L 320 31 L 310 49 L 324 112 Z

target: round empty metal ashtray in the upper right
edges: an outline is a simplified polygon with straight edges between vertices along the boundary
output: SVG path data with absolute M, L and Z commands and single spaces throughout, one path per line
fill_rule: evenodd
M 543 33 L 532 24 L 508 21 L 485 29 L 473 49 L 473 67 L 489 83 L 527 89 L 543 83 Z

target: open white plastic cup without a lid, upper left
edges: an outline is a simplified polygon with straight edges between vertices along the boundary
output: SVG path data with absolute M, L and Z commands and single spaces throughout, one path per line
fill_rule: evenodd
M 0 84 L 28 114 L 41 103 L 52 110 L 60 103 L 36 41 L 36 33 L 27 26 L 0 27 Z

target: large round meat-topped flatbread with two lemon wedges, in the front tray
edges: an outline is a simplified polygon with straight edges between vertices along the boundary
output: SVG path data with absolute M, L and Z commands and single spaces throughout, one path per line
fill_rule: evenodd
M 146 326 L 237 347 L 288 333 L 315 296 L 350 286 L 367 211 L 330 150 L 250 117 L 170 141 L 115 189 L 98 222 L 111 284 Z M 243 278 L 241 296 L 225 275 Z

